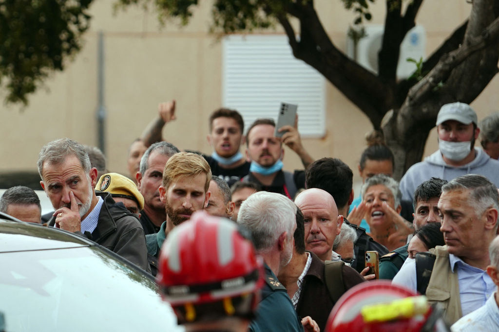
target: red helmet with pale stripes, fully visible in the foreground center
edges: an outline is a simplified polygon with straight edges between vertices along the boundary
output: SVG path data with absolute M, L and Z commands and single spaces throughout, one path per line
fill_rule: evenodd
M 238 225 L 199 211 L 168 233 L 156 281 L 183 324 L 251 318 L 263 276 L 263 260 Z

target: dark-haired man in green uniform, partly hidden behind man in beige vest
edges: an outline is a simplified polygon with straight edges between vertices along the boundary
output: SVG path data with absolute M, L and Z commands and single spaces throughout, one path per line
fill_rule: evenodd
M 431 178 L 420 184 L 414 192 L 414 228 L 418 230 L 420 227 L 429 222 L 440 222 L 439 210 L 437 207 L 440 194 L 442 194 L 442 186 L 447 183 L 446 180 Z M 392 252 L 380 258 L 379 278 L 393 279 L 397 272 L 404 264 L 409 256 L 406 245 L 395 249 Z

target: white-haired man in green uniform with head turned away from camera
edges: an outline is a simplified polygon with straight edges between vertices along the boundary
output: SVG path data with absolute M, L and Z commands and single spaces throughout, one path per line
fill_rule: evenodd
M 256 253 L 263 257 L 265 284 L 256 317 L 249 331 L 317 331 L 309 317 L 300 323 L 286 288 L 276 275 L 293 255 L 293 234 L 296 229 L 296 206 L 287 197 L 258 192 L 241 205 L 238 223 L 250 230 Z M 308 321 L 307 321 L 308 320 Z M 303 324 L 303 326 L 302 326 Z

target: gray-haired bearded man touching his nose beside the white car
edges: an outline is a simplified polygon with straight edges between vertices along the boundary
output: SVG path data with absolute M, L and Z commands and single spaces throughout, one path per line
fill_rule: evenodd
M 83 145 L 68 138 L 47 143 L 38 156 L 38 172 L 55 209 L 49 226 L 86 236 L 149 269 L 140 222 L 116 205 L 111 194 L 95 193 L 97 169 L 91 168 Z

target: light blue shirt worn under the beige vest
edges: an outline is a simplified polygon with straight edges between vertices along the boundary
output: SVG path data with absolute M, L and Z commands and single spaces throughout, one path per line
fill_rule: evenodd
M 463 316 L 482 307 L 494 293 L 496 285 L 486 271 L 466 264 L 461 258 L 449 254 L 453 273 L 458 273 L 459 294 Z M 416 260 L 406 260 L 393 283 L 417 290 Z

